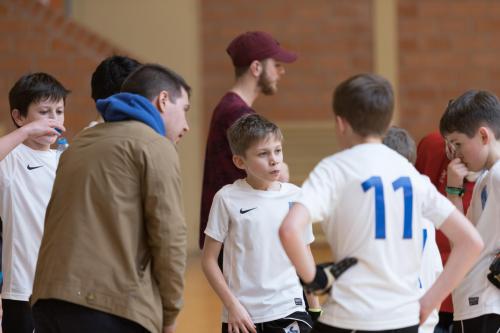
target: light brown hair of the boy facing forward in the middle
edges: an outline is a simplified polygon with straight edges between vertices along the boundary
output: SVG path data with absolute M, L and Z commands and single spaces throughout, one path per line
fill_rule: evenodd
M 233 155 L 240 156 L 245 156 L 245 152 L 252 144 L 270 135 L 283 141 L 279 127 L 256 113 L 241 117 L 227 130 L 231 151 Z

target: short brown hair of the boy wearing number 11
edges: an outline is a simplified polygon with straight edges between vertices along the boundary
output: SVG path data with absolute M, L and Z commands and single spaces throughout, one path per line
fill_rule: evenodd
M 342 82 L 333 93 L 333 112 L 347 120 L 362 137 L 384 135 L 394 109 L 389 81 L 375 74 L 359 74 Z

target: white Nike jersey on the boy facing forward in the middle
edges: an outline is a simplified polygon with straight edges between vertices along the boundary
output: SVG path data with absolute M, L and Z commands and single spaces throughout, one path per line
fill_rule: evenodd
M 278 230 L 300 188 L 253 189 L 244 179 L 224 186 L 212 203 L 205 234 L 224 243 L 224 278 L 254 323 L 305 311 L 302 287 Z M 314 240 L 312 228 L 304 240 Z M 227 322 L 224 308 L 222 321 Z

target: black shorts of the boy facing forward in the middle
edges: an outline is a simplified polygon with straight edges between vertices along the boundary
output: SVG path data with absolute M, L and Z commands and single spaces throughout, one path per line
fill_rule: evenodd
M 309 333 L 312 320 L 307 312 L 297 311 L 281 319 L 255 324 L 255 327 L 257 333 Z M 227 323 L 222 323 L 222 333 L 231 333 L 228 331 Z

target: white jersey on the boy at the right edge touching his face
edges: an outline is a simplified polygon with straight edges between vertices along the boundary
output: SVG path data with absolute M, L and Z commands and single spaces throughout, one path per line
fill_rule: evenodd
M 453 291 L 454 320 L 500 314 L 500 289 L 486 277 L 495 254 L 500 251 L 500 162 L 477 179 L 467 217 L 481 235 L 484 248 Z

